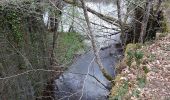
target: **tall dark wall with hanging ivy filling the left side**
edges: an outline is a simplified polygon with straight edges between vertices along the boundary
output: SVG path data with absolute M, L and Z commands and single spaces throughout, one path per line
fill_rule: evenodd
M 4 5 L 0 4 L 0 40 L 1 42 L 5 42 L 1 45 L 0 54 L 2 57 L 0 58 L 0 62 L 4 65 L 3 72 L 6 76 L 15 75 L 31 68 L 27 64 L 27 60 L 18 56 L 20 54 L 17 54 L 16 50 L 28 59 L 34 69 L 46 69 L 49 65 L 46 59 L 48 57 L 46 35 L 48 34 L 46 34 L 44 29 L 43 20 L 40 19 L 42 14 L 41 9 L 38 8 L 39 6 L 32 6 L 32 1 L 23 2 L 23 0 L 20 0 L 19 2 L 21 3 L 17 2 L 14 4 L 11 1 Z M 6 38 L 16 50 L 8 44 Z M 8 48 L 11 52 L 7 50 Z M 33 100 L 32 98 L 26 99 L 28 97 L 26 96 L 26 91 L 29 90 L 28 92 L 33 93 L 32 96 L 34 97 L 41 95 L 37 90 L 42 91 L 44 88 L 44 84 L 42 83 L 47 82 L 51 73 L 36 72 L 33 74 L 28 73 L 12 78 L 4 86 L 1 85 L 1 82 L 0 88 L 2 86 L 6 88 L 4 90 L 2 88 L 0 92 L 7 100 Z M 33 78 L 27 78 L 26 76 L 32 76 Z M 41 83 L 42 85 L 37 83 Z M 11 88 L 12 86 L 14 88 Z M 23 89 L 25 91 L 22 91 Z M 0 96 L 0 99 L 4 97 Z

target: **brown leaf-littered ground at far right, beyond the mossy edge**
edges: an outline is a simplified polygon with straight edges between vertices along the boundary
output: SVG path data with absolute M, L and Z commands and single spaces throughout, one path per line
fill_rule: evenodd
M 160 38 L 146 50 L 154 55 L 154 60 L 147 64 L 150 72 L 146 75 L 147 83 L 141 90 L 141 97 L 145 100 L 169 100 L 170 35 Z

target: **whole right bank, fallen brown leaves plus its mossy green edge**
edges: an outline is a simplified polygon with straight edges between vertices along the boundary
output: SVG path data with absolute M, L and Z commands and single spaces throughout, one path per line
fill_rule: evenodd
M 170 2 L 165 7 L 168 32 L 144 45 L 127 46 L 111 100 L 170 100 Z

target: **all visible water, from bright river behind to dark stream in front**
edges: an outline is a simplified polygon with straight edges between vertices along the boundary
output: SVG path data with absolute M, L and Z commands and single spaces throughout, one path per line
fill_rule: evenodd
M 116 6 L 113 3 L 86 2 L 86 5 L 104 15 L 116 17 Z M 68 31 L 73 24 L 74 31 L 83 36 L 87 36 L 87 26 L 84 21 L 82 9 L 74 8 L 67 5 L 64 7 L 60 31 Z M 44 22 L 47 20 L 48 13 L 44 14 Z M 73 18 L 73 15 L 74 18 Z M 88 13 L 90 21 L 97 25 L 92 25 L 93 34 L 96 37 L 99 55 L 106 71 L 115 76 L 115 64 L 120 60 L 122 55 L 121 48 L 116 48 L 115 44 L 120 43 L 120 34 L 109 36 L 117 31 L 111 28 L 117 28 L 107 22 L 99 19 L 95 15 Z M 74 22 L 73 22 L 74 21 Z M 104 28 L 106 26 L 108 28 Z M 64 27 L 64 28 L 63 28 Z M 104 37 L 103 37 L 104 36 Z M 90 40 L 84 41 L 90 45 Z M 108 47 L 109 46 L 109 47 Z M 106 48 L 105 48 L 106 47 Z M 56 100 L 107 100 L 109 94 L 110 82 L 102 75 L 98 65 L 94 61 L 93 51 L 81 55 L 69 67 L 67 71 L 55 80 L 55 99 Z

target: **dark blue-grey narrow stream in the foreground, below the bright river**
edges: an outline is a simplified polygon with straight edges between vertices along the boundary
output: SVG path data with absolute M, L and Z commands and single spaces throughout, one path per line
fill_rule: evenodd
M 110 55 L 112 51 L 112 55 Z M 100 56 L 107 72 L 115 76 L 114 65 L 122 55 L 115 46 L 100 50 Z M 88 73 L 88 75 L 87 75 Z M 94 60 L 92 51 L 87 52 L 70 66 L 70 69 L 55 80 L 55 99 L 62 100 L 106 100 L 109 82 L 102 75 Z

